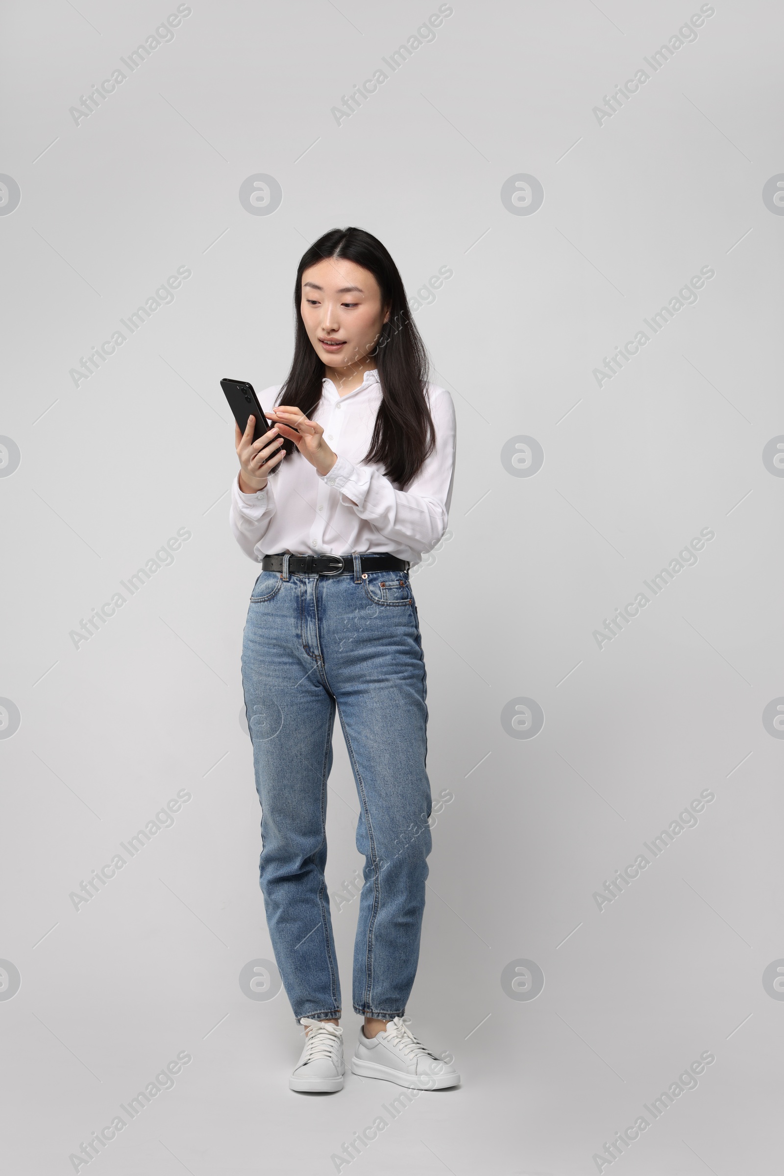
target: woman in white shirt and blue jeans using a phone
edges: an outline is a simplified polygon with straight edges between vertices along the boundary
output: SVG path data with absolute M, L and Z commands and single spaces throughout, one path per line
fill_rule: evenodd
M 403 1021 L 420 951 L 430 786 L 427 686 L 408 569 L 447 529 L 455 412 L 384 246 L 333 229 L 300 262 L 296 342 L 273 428 L 236 428 L 235 539 L 262 572 L 242 683 L 262 807 L 260 882 L 287 995 L 304 1025 L 293 1090 L 343 1085 L 341 990 L 324 881 L 337 711 L 364 855 L 351 1070 L 404 1087 L 460 1082 Z

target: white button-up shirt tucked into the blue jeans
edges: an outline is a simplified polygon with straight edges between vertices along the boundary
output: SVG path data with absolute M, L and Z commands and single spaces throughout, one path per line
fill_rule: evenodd
M 272 409 L 280 385 L 259 396 Z M 411 564 L 447 529 L 455 469 L 455 407 L 445 388 L 428 387 L 436 447 L 406 490 L 376 463 L 364 463 L 381 403 L 378 373 L 366 373 L 354 392 L 341 396 L 324 380 L 310 419 L 322 426 L 337 461 L 323 476 L 296 450 L 280 463 L 263 490 L 243 494 L 239 474 L 232 486 L 229 523 L 252 560 L 292 555 L 360 555 L 389 552 Z M 351 501 L 349 501 L 349 499 Z

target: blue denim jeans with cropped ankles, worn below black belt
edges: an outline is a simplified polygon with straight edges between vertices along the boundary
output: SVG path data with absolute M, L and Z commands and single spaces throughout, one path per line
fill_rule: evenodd
M 350 559 L 350 557 L 349 557 Z M 350 564 L 349 564 L 350 567 Z M 364 855 L 354 1011 L 402 1016 L 420 955 L 430 853 L 427 683 L 407 572 L 262 572 L 242 643 L 261 802 L 260 884 L 296 1018 L 337 1017 L 341 989 L 324 880 L 335 710 L 360 799 Z

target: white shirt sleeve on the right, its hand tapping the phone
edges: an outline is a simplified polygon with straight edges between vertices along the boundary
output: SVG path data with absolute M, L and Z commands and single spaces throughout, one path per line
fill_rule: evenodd
M 435 547 L 447 529 L 455 473 L 455 406 L 444 388 L 431 389 L 433 393 L 435 449 L 408 489 L 395 489 L 376 466 L 353 465 L 341 456 L 321 479 L 339 490 L 341 502 L 373 523 L 384 539 L 421 552 Z

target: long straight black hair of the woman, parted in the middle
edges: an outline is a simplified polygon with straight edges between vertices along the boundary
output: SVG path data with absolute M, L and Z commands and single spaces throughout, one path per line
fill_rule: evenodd
M 435 427 L 425 396 L 428 354 L 411 318 L 397 266 L 371 233 L 361 228 L 334 228 L 303 254 L 294 288 L 294 359 L 277 403 L 293 405 L 309 416 L 321 400 L 326 368 L 308 339 L 301 300 L 302 274 L 324 258 L 346 258 L 368 269 L 381 289 L 382 307 L 389 310 L 389 319 L 371 353 L 376 359 L 382 401 L 363 460 L 382 466 L 387 477 L 406 489 L 435 448 Z M 296 447 L 287 441 L 286 448 L 290 454 Z

